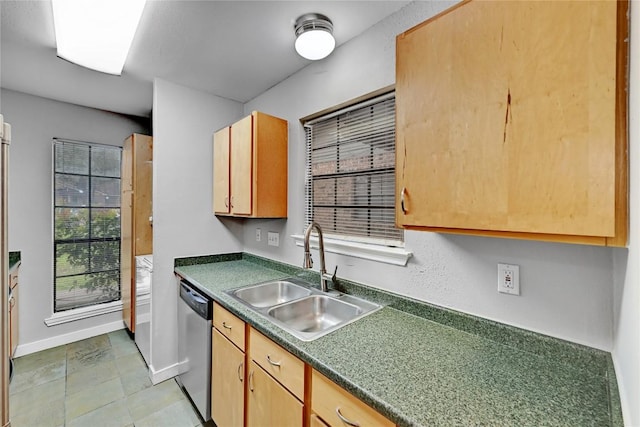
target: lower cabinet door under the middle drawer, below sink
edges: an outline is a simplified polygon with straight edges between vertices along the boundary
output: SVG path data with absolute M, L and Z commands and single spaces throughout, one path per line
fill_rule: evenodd
M 301 427 L 302 403 L 254 361 L 249 366 L 247 426 Z

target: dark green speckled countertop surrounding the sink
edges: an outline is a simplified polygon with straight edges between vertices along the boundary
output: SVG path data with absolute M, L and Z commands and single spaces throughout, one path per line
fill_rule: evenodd
M 317 273 L 249 254 L 176 273 L 400 426 L 622 426 L 608 353 L 340 280 L 385 307 L 303 342 L 225 290 Z

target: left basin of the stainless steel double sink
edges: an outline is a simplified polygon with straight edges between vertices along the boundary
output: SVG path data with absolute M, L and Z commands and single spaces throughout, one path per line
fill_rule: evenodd
M 237 289 L 232 295 L 253 307 L 262 308 L 306 297 L 311 291 L 290 281 L 276 280 Z

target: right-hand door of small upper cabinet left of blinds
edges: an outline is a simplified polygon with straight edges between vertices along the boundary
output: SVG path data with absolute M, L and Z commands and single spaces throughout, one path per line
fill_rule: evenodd
M 231 126 L 231 212 L 251 215 L 253 180 L 253 116 Z

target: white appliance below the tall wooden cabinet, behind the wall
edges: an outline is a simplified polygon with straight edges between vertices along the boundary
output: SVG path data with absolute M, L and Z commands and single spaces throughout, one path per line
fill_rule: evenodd
M 153 255 L 136 257 L 136 333 L 135 342 L 147 366 L 151 351 L 151 278 Z

